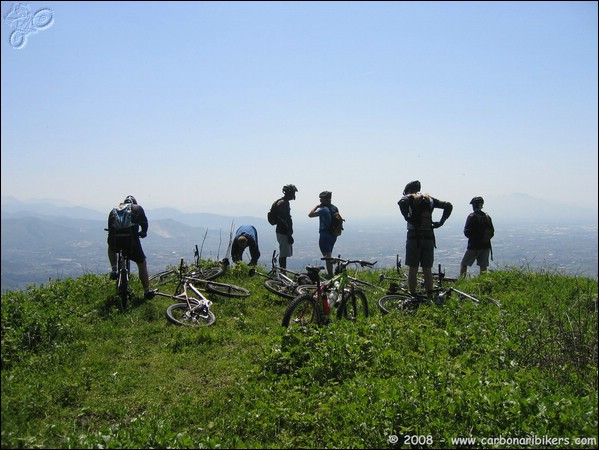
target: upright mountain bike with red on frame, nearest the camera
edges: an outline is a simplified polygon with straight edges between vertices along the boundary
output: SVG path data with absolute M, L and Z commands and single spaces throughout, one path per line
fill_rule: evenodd
M 325 257 L 323 261 L 338 263 L 336 275 L 321 282 L 323 266 L 306 266 L 306 272 L 316 289 L 312 293 L 300 294 L 294 298 L 283 315 L 284 327 L 305 327 L 310 324 L 324 325 L 330 322 L 331 308 L 337 308 L 337 319 L 359 320 L 368 317 L 368 299 L 364 291 L 356 285 L 347 273 L 347 266 L 359 264 L 372 267 L 376 262 L 363 260 L 343 260 Z

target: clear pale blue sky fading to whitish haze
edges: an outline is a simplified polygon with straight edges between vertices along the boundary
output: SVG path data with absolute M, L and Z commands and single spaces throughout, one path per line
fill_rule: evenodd
M 294 217 L 322 190 L 397 216 L 419 179 L 597 208 L 597 2 L 17 5 L 3 196 L 266 217 L 293 183 Z

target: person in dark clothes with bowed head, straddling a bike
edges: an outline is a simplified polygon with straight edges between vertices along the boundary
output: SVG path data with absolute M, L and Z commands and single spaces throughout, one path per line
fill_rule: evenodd
M 139 279 L 144 288 L 144 298 L 148 300 L 154 297 L 154 292 L 150 290 L 146 255 L 139 240 L 148 235 L 148 218 L 142 206 L 137 204 L 137 200 L 132 195 L 127 196 L 121 205 L 127 204 L 131 204 L 131 226 L 128 236 L 116 235 L 113 220 L 113 216 L 116 214 L 115 210 L 110 211 L 108 215 L 108 260 L 112 267 L 110 278 L 112 280 L 117 279 L 117 252 L 126 249 L 129 259 L 137 264 Z

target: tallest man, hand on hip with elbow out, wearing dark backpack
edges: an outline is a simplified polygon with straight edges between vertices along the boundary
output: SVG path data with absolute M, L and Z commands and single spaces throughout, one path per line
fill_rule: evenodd
M 438 200 L 428 194 L 420 193 L 420 181 L 411 181 L 403 191 L 403 197 L 397 202 L 399 210 L 407 222 L 406 265 L 408 270 L 408 289 L 416 294 L 418 267 L 422 267 L 424 288 L 429 297 L 433 291 L 433 261 L 435 259 L 434 229 L 443 226 L 451 215 L 453 205 Z M 433 210 L 443 210 L 441 220 L 433 222 Z

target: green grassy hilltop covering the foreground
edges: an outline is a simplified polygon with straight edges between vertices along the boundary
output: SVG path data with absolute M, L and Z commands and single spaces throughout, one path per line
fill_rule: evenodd
M 378 312 L 383 286 L 367 320 L 290 333 L 247 269 L 219 281 L 252 295 L 212 298 L 202 329 L 136 278 L 125 312 L 107 276 L 4 293 L 2 448 L 596 448 L 597 280 L 506 268 L 456 284 L 501 308 L 404 316 Z

